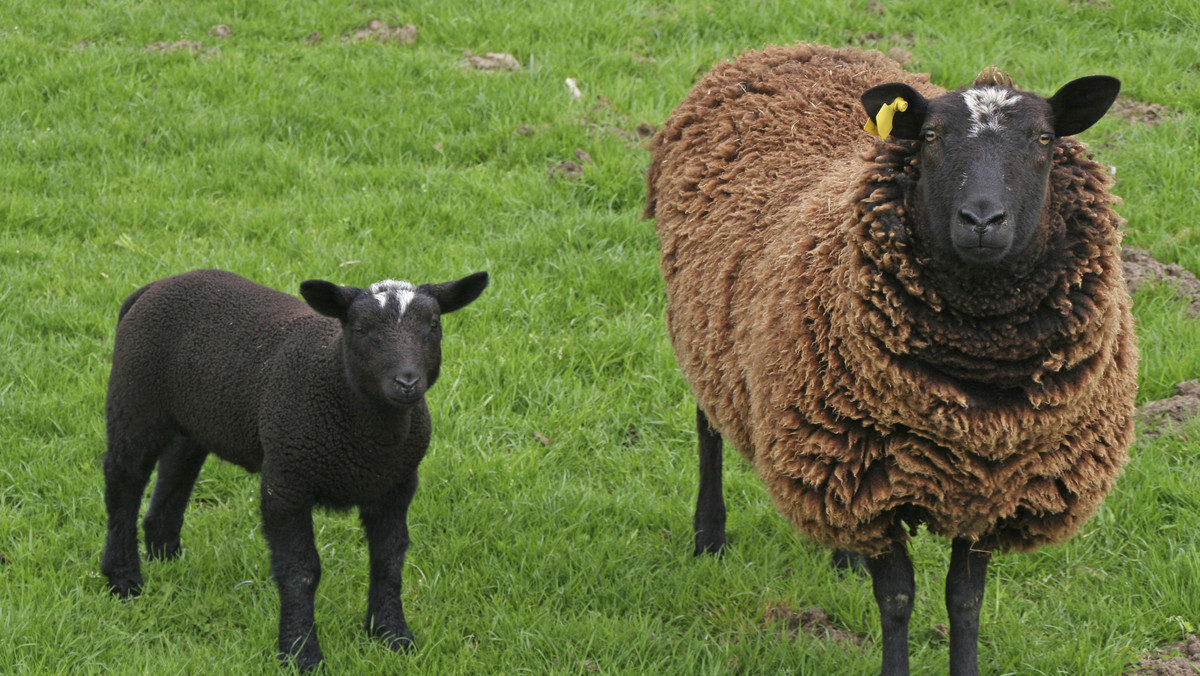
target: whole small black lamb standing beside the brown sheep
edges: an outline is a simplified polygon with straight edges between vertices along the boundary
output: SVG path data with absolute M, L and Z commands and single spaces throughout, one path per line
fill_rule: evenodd
M 212 453 L 262 474 L 281 659 L 302 669 L 322 660 L 317 504 L 359 508 L 371 558 L 366 629 L 392 650 L 410 647 L 401 573 L 416 466 L 430 443 L 425 391 L 442 363 L 439 317 L 486 286 L 487 273 L 368 289 L 310 280 L 301 301 L 232 273 L 196 270 L 133 292 L 118 319 L 106 406 L 101 570 L 113 594 L 142 590 L 137 515 L 155 463 L 146 552 L 174 558 L 187 499 Z

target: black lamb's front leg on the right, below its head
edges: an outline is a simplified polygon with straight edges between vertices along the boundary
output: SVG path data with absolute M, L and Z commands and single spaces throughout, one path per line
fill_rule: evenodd
M 362 505 L 359 519 L 367 536 L 371 587 L 367 591 L 367 633 L 380 636 L 394 651 L 414 646 L 400 598 L 404 552 L 408 550 L 408 505 L 416 493 L 416 472 L 384 499 Z

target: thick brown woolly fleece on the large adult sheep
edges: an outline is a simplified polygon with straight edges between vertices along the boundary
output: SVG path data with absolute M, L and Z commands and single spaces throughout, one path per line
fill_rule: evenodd
M 814 44 L 713 68 L 653 142 L 667 327 L 779 509 L 880 554 L 924 524 L 997 550 L 1072 536 L 1127 461 L 1138 354 L 1111 179 L 1058 139 L 1032 271 L 964 285 L 908 221 L 917 142 L 859 96 L 928 76 Z

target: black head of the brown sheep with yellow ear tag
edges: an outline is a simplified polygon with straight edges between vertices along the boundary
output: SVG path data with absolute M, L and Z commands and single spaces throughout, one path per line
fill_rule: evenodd
M 892 134 L 917 142 L 912 234 L 943 267 L 990 274 L 1036 264 L 1026 252 L 1050 237 L 1043 214 L 1056 139 L 1096 124 L 1120 89 L 1116 78 L 1092 76 L 1044 98 L 990 70 L 931 100 L 881 84 L 863 94 L 863 106 L 883 127 L 894 114 Z

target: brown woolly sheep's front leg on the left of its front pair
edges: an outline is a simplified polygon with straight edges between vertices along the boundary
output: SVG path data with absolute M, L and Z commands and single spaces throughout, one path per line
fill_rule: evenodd
M 912 561 L 904 540 L 892 544 L 892 550 L 866 560 L 871 573 L 875 603 L 880 606 L 883 626 L 883 668 L 880 676 L 908 676 L 908 618 L 916 585 Z

